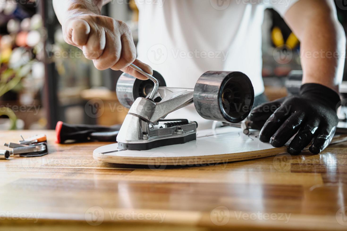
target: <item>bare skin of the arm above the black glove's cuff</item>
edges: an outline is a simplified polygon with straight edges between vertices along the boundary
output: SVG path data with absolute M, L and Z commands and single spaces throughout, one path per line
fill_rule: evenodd
M 338 92 L 346 36 L 333 0 L 300 0 L 284 19 L 301 42 L 303 84 L 319 83 Z

